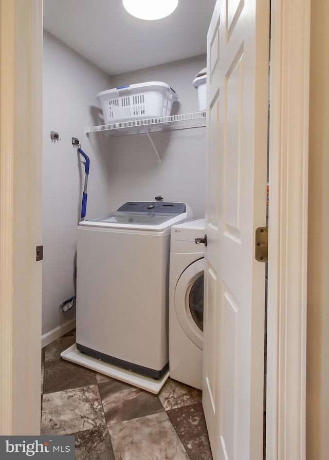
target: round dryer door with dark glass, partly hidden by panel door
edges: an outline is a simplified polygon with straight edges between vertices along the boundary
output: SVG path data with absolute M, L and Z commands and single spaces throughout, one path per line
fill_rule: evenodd
M 175 289 L 175 310 L 186 335 L 203 349 L 205 259 L 191 263 L 180 275 Z

